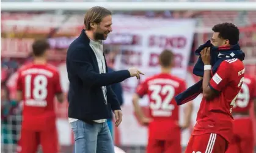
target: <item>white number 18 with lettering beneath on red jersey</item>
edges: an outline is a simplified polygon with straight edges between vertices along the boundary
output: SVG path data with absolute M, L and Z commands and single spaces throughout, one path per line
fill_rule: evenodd
M 47 97 L 47 84 L 46 76 L 37 75 L 34 77 L 34 80 L 32 80 L 31 74 L 25 76 L 25 104 L 45 107 L 47 105 L 45 101 Z

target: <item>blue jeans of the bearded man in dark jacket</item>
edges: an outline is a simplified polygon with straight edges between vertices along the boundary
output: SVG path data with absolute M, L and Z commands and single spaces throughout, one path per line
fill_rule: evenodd
M 114 153 L 108 124 L 87 124 L 78 120 L 71 123 L 75 138 L 75 153 Z

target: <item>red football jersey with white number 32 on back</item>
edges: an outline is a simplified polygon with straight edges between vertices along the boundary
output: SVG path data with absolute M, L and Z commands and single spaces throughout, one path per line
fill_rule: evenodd
M 148 95 L 150 117 L 149 135 L 159 140 L 172 137 L 168 133 L 178 130 L 178 105 L 174 97 L 186 90 L 186 83 L 170 74 L 157 74 L 149 77 L 137 87 L 139 96 Z M 177 132 L 179 135 L 179 132 Z

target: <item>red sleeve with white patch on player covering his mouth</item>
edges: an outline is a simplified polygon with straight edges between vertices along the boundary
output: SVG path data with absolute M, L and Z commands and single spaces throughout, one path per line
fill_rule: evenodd
M 213 77 L 210 80 L 210 87 L 214 90 L 221 91 L 222 88 L 224 88 L 227 84 L 229 84 L 229 74 L 227 72 L 230 72 L 229 65 L 227 62 L 222 62 L 221 65 L 219 65 L 219 68 L 217 69 L 216 73 L 213 75 Z

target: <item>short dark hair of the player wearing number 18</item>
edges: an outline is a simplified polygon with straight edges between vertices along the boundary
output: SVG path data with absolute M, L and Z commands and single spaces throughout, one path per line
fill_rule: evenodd
M 47 40 L 35 40 L 32 44 L 32 53 L 35 57 L 40 57 L 45 54 L 45 51 L 49 49 L 49 47 Z

